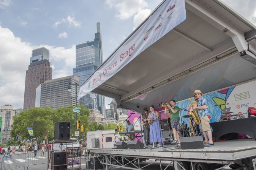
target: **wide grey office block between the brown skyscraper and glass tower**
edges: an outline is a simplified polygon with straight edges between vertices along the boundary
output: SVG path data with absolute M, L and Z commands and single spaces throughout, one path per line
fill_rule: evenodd
M 69 83 L 75 84 L 79 82 L 76 76 L 67 76 L 53 80 L 47 80 L 36 88 L 36 104 L 35 107 L 50 107 L 57 109 L 62 106 L 76 106 L 76 87 L 71 86 L 68 91 Z M 79 86 L 77 86 L 77 94 Z M 79 104 L 79 101 L 77 101 Z

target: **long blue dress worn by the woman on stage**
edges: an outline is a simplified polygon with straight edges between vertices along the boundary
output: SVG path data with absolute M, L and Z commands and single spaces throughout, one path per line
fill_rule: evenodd
M 150 112 L 150 119 L 157 117 L 154 113 Z M 160 121 L 158 119 L 154 120 L 150 125 L 150 142 L 164 142 Z

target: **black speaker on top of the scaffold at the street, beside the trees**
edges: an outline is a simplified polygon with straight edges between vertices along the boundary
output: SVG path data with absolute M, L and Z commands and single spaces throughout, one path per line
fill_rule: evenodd
M 54 140 L 70 140 L 70 122 L 55 122 Z

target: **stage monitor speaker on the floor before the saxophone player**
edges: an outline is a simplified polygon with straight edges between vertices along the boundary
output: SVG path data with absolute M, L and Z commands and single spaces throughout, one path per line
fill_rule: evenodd
M 204 141 L 202 136 L 180 138 L 180 144 L 182 149 L 204 148 Z

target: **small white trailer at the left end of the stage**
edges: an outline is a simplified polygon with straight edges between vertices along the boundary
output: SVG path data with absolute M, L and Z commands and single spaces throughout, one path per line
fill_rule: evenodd
M 86 140 L 87 140 L 86 155 L 92 156 L 93 153 L 90 153 L 90 149 L 92 148 L 114 147 L 115 130 L 87 131 Z

